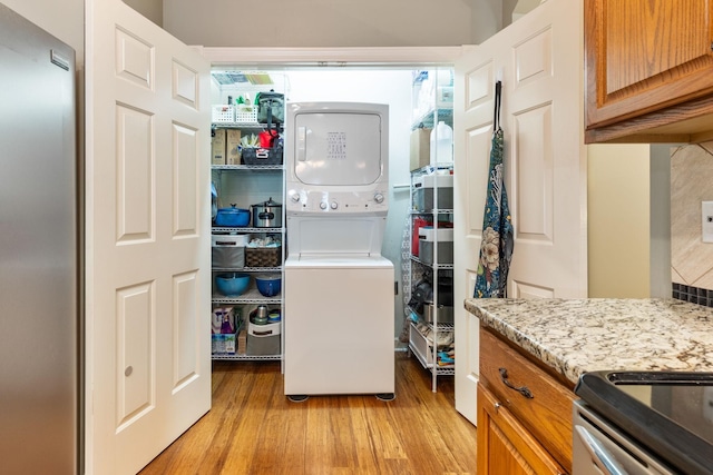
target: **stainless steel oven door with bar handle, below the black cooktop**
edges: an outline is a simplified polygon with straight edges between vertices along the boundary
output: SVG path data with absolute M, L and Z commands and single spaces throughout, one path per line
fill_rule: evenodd
M 593 413 L 582 400 L 573 410 L 573 473 L 576 475 L 674 474 L 645 448 Z

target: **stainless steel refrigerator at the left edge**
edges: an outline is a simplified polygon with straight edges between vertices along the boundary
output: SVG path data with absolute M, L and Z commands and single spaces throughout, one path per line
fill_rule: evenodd
M 0 3 L 0 473 L 79 468 L 75 52 Z

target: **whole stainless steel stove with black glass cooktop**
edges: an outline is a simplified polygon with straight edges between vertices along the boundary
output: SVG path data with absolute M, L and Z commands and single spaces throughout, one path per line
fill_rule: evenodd
M 575 394 L 575 475 L 713 474 L 713 373 L 594 372 Z

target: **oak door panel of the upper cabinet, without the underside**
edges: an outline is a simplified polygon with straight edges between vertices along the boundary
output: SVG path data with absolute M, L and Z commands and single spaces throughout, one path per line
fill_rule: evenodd
M 713 92 L 713 0 L 585 0 L 586 126 Z

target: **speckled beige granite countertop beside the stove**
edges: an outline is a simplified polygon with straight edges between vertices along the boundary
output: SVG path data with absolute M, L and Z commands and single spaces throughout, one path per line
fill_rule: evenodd
M 575 384 L 606 369 L 713 372 L 711 307 L 655 298 L 469 298 L 465 306 Z

